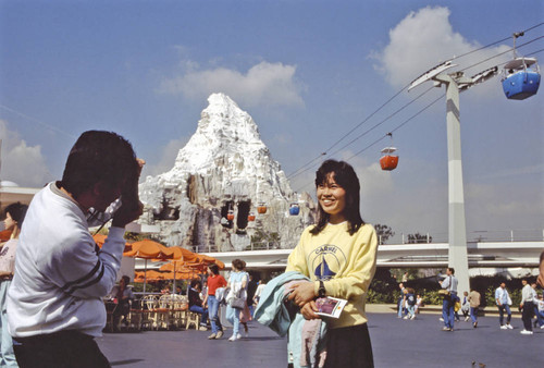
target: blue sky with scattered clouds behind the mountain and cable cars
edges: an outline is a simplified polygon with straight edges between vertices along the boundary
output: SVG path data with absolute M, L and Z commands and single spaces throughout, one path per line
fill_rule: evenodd
M 41 186 L 62 174 L 75 138 L 90 128 L 127 137 L 148 161 L 172 168 L 207 97 L 223 91 L 251 114 L 287 174 L 327 150 L 438 62 L 542 23 L 540 1 L 2 1 L 2 180 Z M 518 45 L 544 35 L 539 26 Z M 467 75 L 499 64 L 511 39 L 459 58 Z M 521 47 L 544 49 L 537 39 Z M 544 52 L 535 54 L 544 61 Z M 544 64 L 544 63 L 542 63 Z M 395 131 L 397 170 L 369 147 L 444 88 L 403 91 L 334 155 L 356 167 L 362 214 L 397 234 L 447 233 L 445 101 Z M 544 225 L 543 91 L 508 101 L 499 77 L 461 94 L 469 232 Z M 360 155 L 355 154 L 367 148 Z M 310 191 L 314 167 L 292 180 Z M 491 236 L 491 235 L 490 235 Z M 470 236 L 469 236 L 470 237 Z

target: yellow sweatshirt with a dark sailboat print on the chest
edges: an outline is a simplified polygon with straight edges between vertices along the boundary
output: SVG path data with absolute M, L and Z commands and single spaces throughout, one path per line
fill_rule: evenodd
M 367 323 L 364 302 L 374 277 L 378 237 L 374 228 L 364 224 L 349 235 L 347 222 L 327 224 L 318 235 L 308 226 L 287 260 L 286 271 L 298 271 L 316 281 L 323 280 L 326 295 L 347 299 L 338 319 L 331 318 L 330 328 Z

